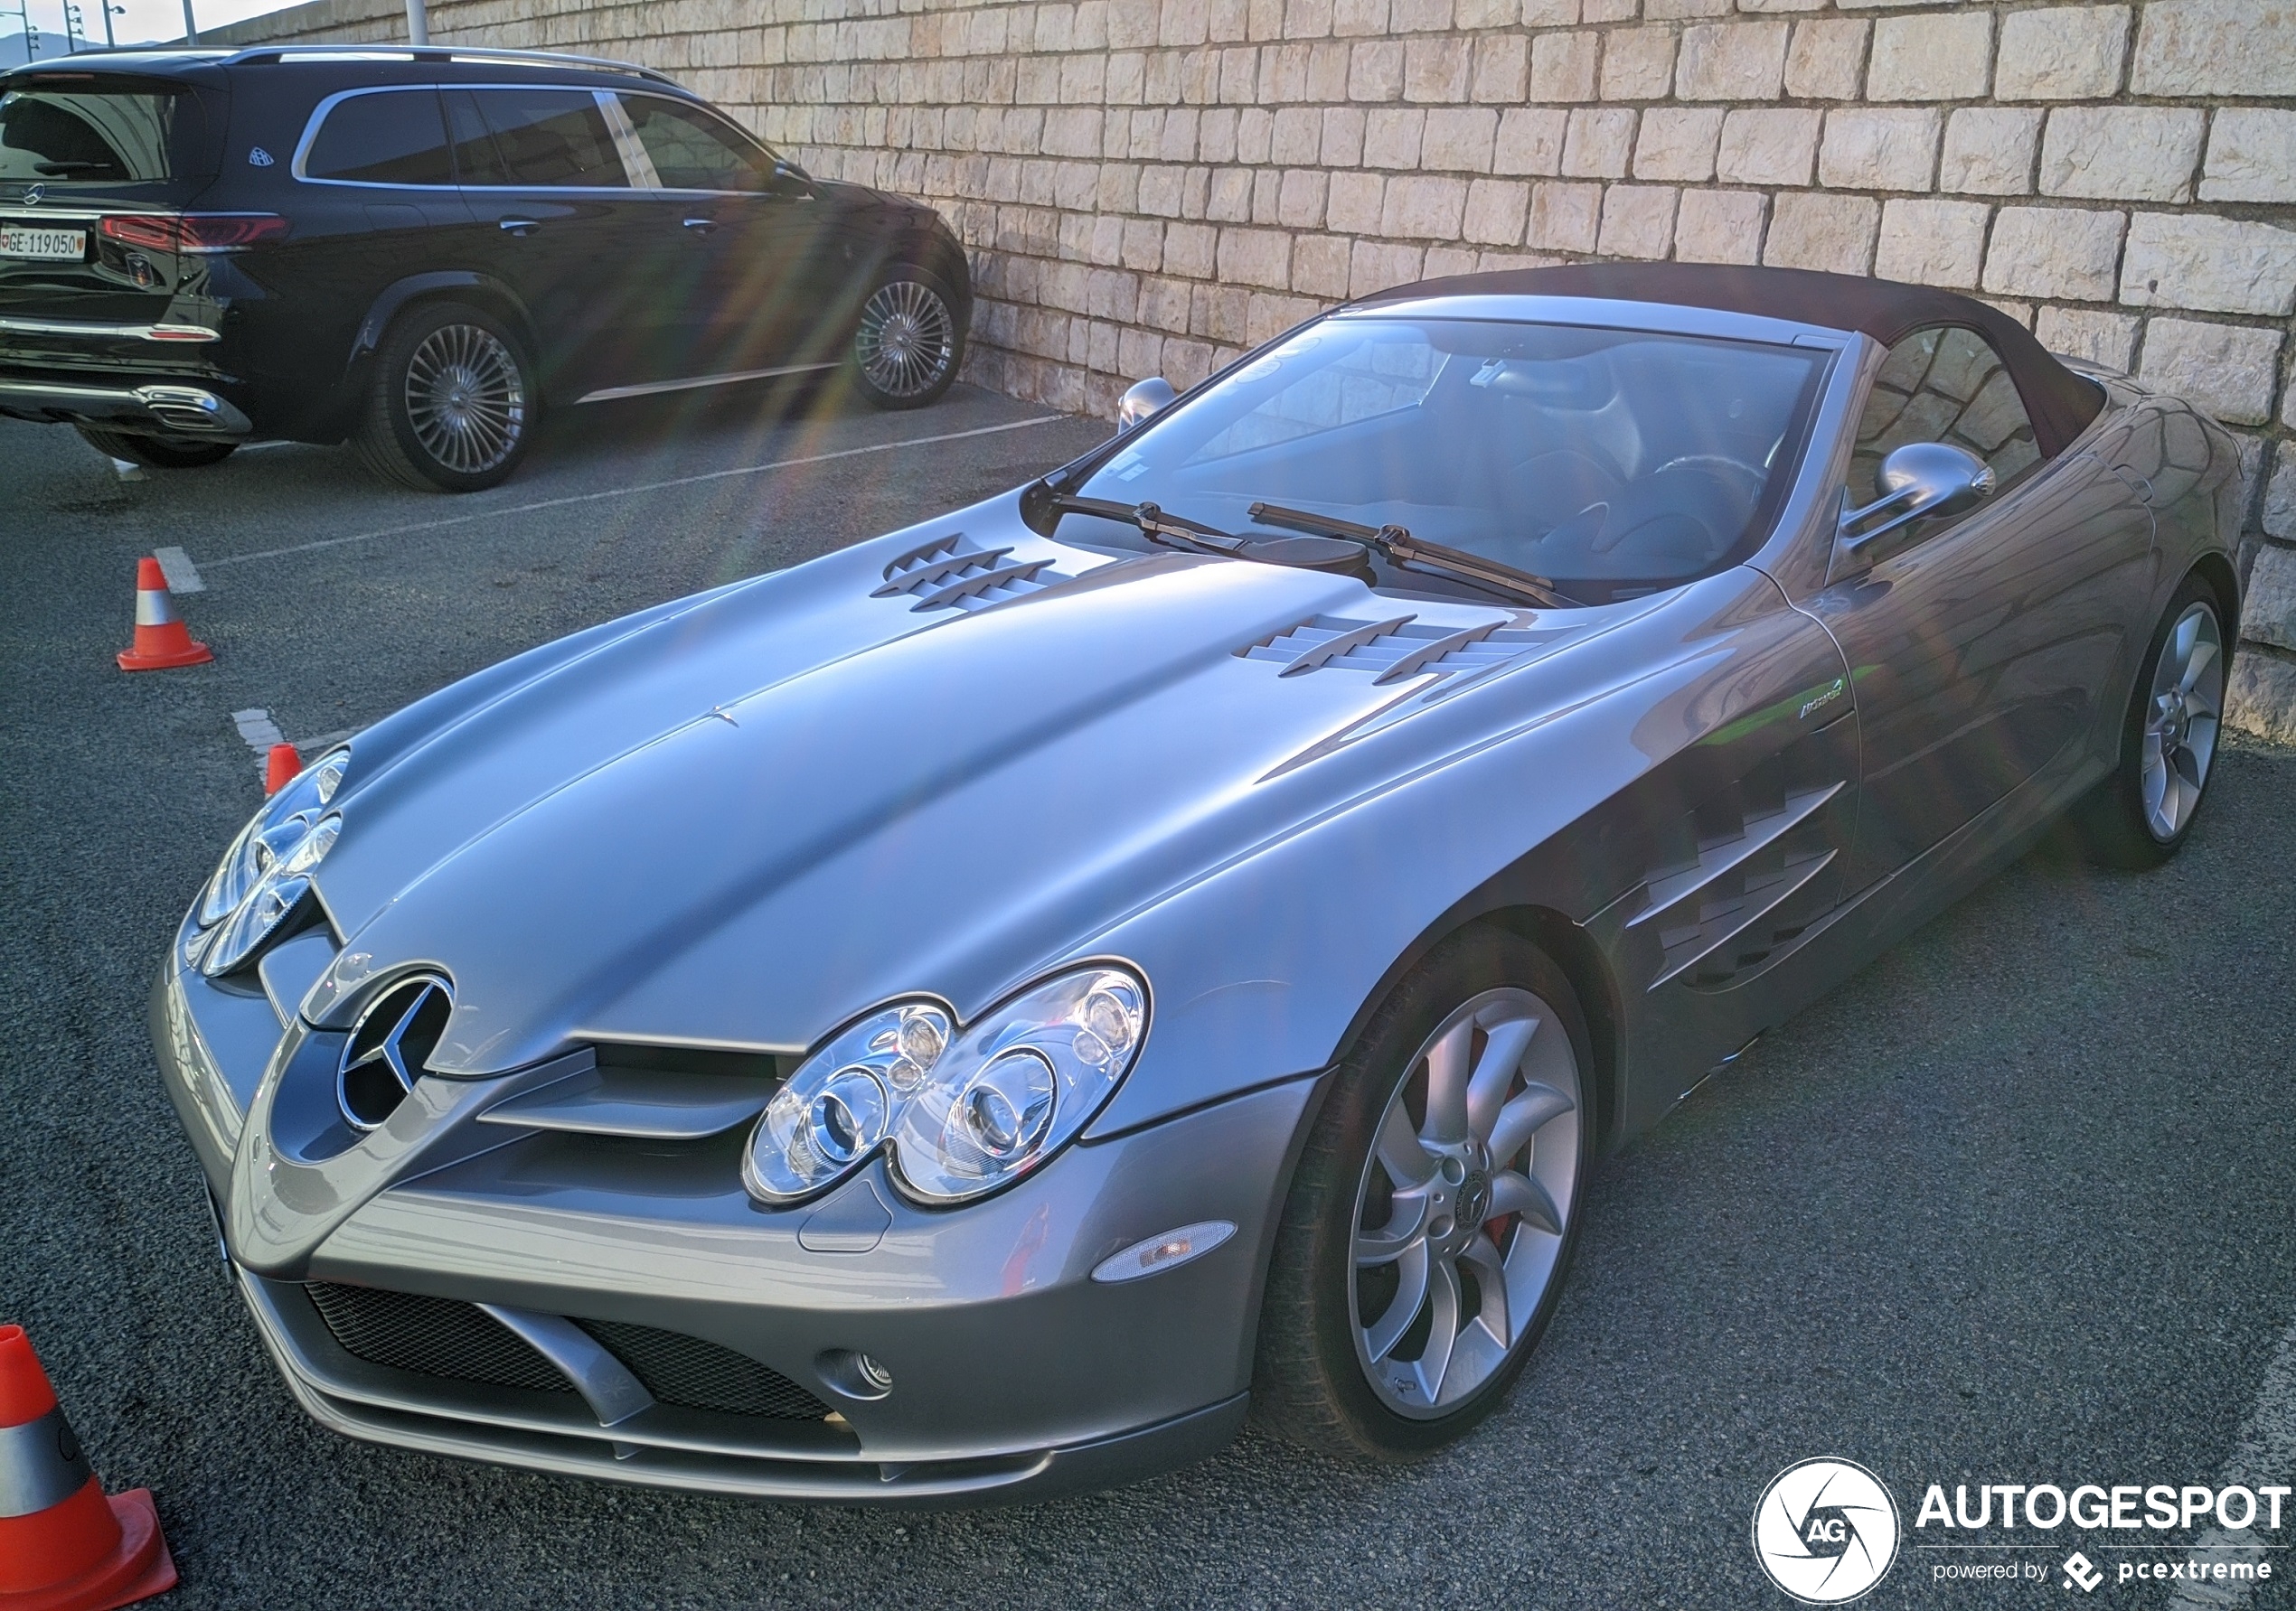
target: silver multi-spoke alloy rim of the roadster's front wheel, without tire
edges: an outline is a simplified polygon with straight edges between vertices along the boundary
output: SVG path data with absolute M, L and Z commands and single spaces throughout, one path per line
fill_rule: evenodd
M 1577 1053 L 1536 994 L 1483 991 L 1421 1044 L 1355 1198 L 1355 1352 L 1389 1409 L 1446 1414 L 1506 1363 L 1554 1281 L 1577 1131 Z

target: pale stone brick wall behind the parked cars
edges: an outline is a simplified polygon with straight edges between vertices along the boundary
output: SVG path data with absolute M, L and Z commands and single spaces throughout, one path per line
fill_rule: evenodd
M 2241 725 L 2296 741 L 2296 0 L 434 0 L 939 204 L 971 379 L 1114 413 L 1421 275 L 1791 264 L 1986 296 L 2234 427 Z M 397 39 L 319 0 L 236 41 Z

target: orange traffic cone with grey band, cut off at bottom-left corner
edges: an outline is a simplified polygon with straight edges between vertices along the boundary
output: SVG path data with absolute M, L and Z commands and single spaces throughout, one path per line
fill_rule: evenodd
M 103 1496 L 23 1326 L 0 1326 L 0 1611 L 110 1611 L 174 1588 L 152 1489 Z

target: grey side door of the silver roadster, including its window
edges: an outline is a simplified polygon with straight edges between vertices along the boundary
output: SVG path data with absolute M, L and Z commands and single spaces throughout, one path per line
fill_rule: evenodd
M 1860 413 L 1851 507 L 1880 459 L 1942 441 L 1998 491 L 1954 521 L 1906 528 L 1876 555 L 1837 544 L 1805 608 L 1851 666 L 1860 817 L 1851 890 L 1903 867 L 2043 771 L 2099 721 L 2144 587 L 2151 516 L 2092 452 L 2043 461 L 2009 372 L 1975 330 L 1896 342 Z

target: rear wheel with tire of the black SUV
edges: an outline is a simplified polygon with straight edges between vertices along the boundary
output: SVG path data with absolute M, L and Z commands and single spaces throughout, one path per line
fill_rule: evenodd
M 420 303 L 390 326 L 351 445 L 386 482 L 484 491 L 510 480 L 535 425 L 533 360 L 494 314 Z

